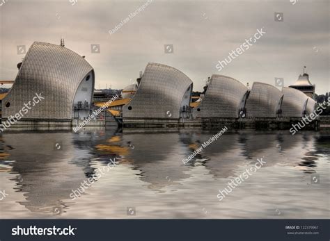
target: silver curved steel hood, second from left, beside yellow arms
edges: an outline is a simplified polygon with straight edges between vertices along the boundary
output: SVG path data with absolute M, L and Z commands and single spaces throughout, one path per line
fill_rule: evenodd
M 134 98 L 123 106 L 123 119 L 179 119 L 191 91 L 192 81 L 178 69 L 148 63 Z

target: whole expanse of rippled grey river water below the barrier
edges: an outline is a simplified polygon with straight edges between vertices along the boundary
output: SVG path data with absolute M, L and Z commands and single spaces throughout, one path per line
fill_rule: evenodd
M 3 133 L 0 218 L 330 217 L 330 133 L 228 130 L 182 163 L 219 131 Z M 266 164 L 219 201 L 258 158 Z

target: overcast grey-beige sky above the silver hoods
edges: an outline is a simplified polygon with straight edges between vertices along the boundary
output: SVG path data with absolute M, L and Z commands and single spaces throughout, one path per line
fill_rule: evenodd
M 207 76 L 223 74 L 242 83 L 288 86 L 304 65 L 316 92 L 330 91 L 329 1 L 159 1 L 152 3 L 116 33 L 109 34 L 146 1 L 15 1 L 0 6 L 0 79 L 14 80 L 17 45 L 34 41 L 59 44 L 86 56 L 95 69 L 95 88 L 124 88 L 149 62 L 170 65 L 201 91 Z M 294 3 L 294 4 L 293 4 Z M 274 13 L 283 13 L 283 22 Z M 218 60 L 262 28 L 265 35 L 218 72 Z M 100 44 L 100 53 L 91 53 Z M 164 53 L 173 44 L 173 53 Z

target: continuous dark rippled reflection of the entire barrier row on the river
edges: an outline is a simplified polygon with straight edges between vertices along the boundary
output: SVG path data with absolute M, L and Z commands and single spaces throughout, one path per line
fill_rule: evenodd
M 320 158 L 327 158 L 329 164 L 330 135 L 324 133 L 290 135 L 285 131 L 228 131 L 194 160 L 183 165 L 182 159 L 201 147 L 213 134 L 191 130 L 171 133 L 118 133 L 115 130 L 77 134 L 5 133 L 0 138 L 0 188 L 12 189 L 13 197 L 23 195 L 24 200 L 17 195 L 15 202 L 32 213 L 62 215 L 70 213 L 70 208 L 75 205 L 76 201 L 69 197 L 72 190 L 93 176 L 97 167 L 107 165 L 110 158 L 116 158 L 122 169 L 111 171 L 113 183 L 109 185 L 120 186 L 125 184 L 123 181 L 136 180 L 121 178 L 122 183 L 116 183 L 120 178 L 116 179 L 116 174 L 134 171 L 132 175 L 141 182 L 136 183 L 139 192 L 147 189 L 155 195 L 168 190 L 184 190 L 196 172 L 205 173 L 205 180 L 212 178 L 214 190 L 217 190 L 217 180 L 237 176 L 261 157 L 267 160 L 266 167 L 280 165 L 288 167 L 288 172 L 301 174 L 317 172 Z M 107 186 L 107 183 L 103 184 Z M 93 189 L 88 193 L 93 194 Z M 109 195 L 116 197 L 116 194 Z M 144 201 L 148 203 L 148 199 Z M 173 200 L 164 205 L 171 206 L 171 203 Z M 0 203 L 6 208 L 3 210 L 10 209 L 10 205 L 13 203 L 7 200 Z

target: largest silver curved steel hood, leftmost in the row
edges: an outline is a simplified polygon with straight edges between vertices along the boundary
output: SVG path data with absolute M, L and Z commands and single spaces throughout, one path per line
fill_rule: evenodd
M 22 119 L 72 119 L 79 85 L 86 89 L 82 81 L 93 81 L 88 86 L 94 88 L 93 67 L 83 57 L 61 45 L 34 42 L 19 68 L 13 88 L 2 101 L 2 118 L 15 115 L 24 103 L 41 93 L 45 99 Z M 90 101 L 93 89 L 84 92 Z

